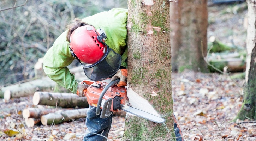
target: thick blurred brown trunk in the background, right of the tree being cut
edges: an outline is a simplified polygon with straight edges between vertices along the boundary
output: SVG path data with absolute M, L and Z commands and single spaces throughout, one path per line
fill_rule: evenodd
M 172 70 L 207 70 L 207 0 L 177 0 L 170 4 Z M 203 54 L 203 55 L 202 55 Z

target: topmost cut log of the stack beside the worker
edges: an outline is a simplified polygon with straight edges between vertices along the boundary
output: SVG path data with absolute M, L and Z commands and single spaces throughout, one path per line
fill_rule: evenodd
M 63 108 L 89 107 L 86 97 L 79 97 L 73 93 L 35 92 L 33 96 L 34 105 L 56 106 L 56 103 Z

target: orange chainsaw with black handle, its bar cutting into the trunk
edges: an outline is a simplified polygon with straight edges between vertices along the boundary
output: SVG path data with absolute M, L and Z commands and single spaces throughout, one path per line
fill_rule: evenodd
M 149 121 L 156 123 L 165 122 L 164 118 L 139 110 L 137 108 L 133 108 L 129 103 L 126 87 L 118 87 L 116 85 L 118 82 L 119 79 L 115 81 L 111 81 L 111 79 L 105 79 L 96 82 L 84 80 L 82 82 L 89 85 L 89 87 L 85 89 L 83 93 L 87 98 L 88 104 L 96 107 L 96 115 L 101 114 L 100 118 L 107 118 L 113 112 L 124 110 L 128 114 L 142 117 Z

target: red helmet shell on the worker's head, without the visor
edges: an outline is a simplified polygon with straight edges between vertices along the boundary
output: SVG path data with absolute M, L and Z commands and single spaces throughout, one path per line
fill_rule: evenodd
M 106 51 L 106 44 L 98 41 L 98 36 L 99 33 L 91 25 L 81 26 L 73 31 L 70 36 L 70 48 L 75 57 L 87 64 L 99 61 Z

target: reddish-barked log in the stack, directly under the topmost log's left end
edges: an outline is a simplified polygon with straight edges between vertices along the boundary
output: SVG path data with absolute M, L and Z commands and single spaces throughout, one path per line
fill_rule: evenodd
M 44 109 L 44 108 L 27 108 L 22 112 L 23 118 L 36 118 L 40 119 L 42 115 L 49 114 L 51 112 L 55 112 L 55 109 Z

